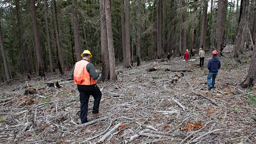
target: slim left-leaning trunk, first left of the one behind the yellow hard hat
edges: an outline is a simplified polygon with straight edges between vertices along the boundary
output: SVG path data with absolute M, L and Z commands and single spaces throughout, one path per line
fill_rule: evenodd
M 56 45 L 58 51 L 58 64 L 59 64 L 59 73 L 64 74 L 64 67 L 63 67 L 63 58 L 62 58 L 62 50 L 60 48 L 60 41 L 59 41 L 59 28 L 57 23 L 57 14 L 56 14 L 56 0 L 52 0 L 52 17 L 53 17 L 53 24 L 55 29 L 55 36 L 56 36 Z

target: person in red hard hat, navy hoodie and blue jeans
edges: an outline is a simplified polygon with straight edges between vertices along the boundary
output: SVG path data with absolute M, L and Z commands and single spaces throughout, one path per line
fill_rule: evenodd
M 216 76 L 218 75 L 218 70 L 220 69 L 220 66 L 221 66 L 220 60 L 217 58 L 217 56 L 218 56 L 217 50 L 213 50 L 213 52 L 211 54 L 213 55 L 213 57 L 209 60 L 208 66 L 207 66 L 209 69 L 209 73 L 208 73 L 208 77 L 207 77 L 209 90 L 214 88 L 215 79 L 216 79 Z M 211 83 L 211 78 L 213 78 L 212 83 Z

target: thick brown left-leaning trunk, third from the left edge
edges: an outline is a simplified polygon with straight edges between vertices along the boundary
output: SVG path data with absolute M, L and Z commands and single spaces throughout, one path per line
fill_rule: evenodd
M 31 12 L 31 20 L 33 25 L 33 34 L 36 43 L 36 57 L 37 57 L 37 65 L 38 65 L 38 74 L 39 76 L 44 77 L 45 72 L 43 68 L 43 59 L 42 59 L 42 49 L 40 45 L 37 17 L 36 17 L 36 5 L 35 0 L 30 0 L 30 12 Z

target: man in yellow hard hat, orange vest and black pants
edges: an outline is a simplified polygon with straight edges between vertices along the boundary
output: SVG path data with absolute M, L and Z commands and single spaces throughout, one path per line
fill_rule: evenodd
M 94 98 L 92 115 L 100 116 L 102 115 L 99 112 L 99 105 L 102 93 L 100 92 L 99 87 L 96 85 L 97 78 L 100 77 L 100 74 L 95 70 L 95 67 L 90 63 L 90 58 L 92 54 L 89 50 L 84 50 L 81 54 L 83 59 L 76 62 L 71 71 L 71 76 L 73 77 L 80 96 L 80 119 L 81 123 L 87 123 L 88 115 L 88 102 L 90 95 Z

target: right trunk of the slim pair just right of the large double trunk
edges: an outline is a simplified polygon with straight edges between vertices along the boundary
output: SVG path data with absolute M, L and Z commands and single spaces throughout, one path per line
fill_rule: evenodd
M 126 64 L 125 67 L 130 67 L 130 0 L 126 0 Z

